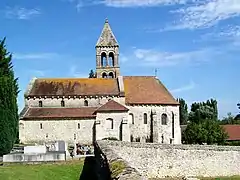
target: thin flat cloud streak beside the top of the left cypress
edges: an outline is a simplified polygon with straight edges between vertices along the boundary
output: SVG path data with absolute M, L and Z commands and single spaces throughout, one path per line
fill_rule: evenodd
M 55 59 L 60 55 L 56 53 L 29 53 L 29 54 L 13 54 L 14 59 L 34 60 L 34 59 Z

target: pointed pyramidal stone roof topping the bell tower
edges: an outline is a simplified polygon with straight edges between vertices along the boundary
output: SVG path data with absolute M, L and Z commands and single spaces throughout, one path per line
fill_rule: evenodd
M 112 32 L 112 29 L 108 23 L 108 19 L 105 20 L 102 33 L 97 41 L 97 46 L 118 46 L 118 42 Z

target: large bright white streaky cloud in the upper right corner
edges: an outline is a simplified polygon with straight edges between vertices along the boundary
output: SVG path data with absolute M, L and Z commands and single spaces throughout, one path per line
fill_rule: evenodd
M 208 28 L 218 24 L 222 20 L 240 15 L 239 0 L 205 0 L 195 5 L 183 7 L 172 11 L 180 15 L 180 20 L 171 29 L 197 29 Z

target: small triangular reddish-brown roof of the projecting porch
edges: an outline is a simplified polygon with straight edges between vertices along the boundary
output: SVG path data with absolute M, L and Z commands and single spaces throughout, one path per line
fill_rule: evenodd
M 106 104 L 99 107 L 96 112 L 102 112 L 102 111 L 128 111 L 129 109 L 125 106 L 119 104 L 118 102 L 114 100 L 108 101 Z

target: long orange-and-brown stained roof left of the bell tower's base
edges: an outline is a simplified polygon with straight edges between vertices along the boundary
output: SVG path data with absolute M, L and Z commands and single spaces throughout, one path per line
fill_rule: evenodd
M 116 79 L 37 79 L 29 96 L 118 95 Z

